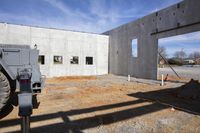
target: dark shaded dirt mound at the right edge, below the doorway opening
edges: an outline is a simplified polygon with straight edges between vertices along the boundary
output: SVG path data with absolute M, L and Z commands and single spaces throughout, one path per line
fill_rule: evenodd
M 178 89 L 177 96 L 184 99 L 200 100 L 200 83 L 191 79 L 190 82 Z

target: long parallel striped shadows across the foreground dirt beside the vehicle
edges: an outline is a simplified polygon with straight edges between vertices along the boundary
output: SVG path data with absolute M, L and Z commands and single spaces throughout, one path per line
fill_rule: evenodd
M 31 122 L 40 122 L 40 121 L 50 120 L 54 118 L 62 118 L 63 122 L 32 128 L 31 132 L 42 132 L 42 133 L 81 132 L 81 130 L 84 130 L 84 129 L 98 127 L 100 125 L 108 125 L 115 122 L 131 119 L 136 116 L 141 116 L 144 114 L 148 114 L 151 112 L 156 112 L 156 111 L 168 108 L 168 106 L 161 105 L 159 103 L 152 103 L 152 104 L 145 105 L 142 107 L 131 108 L 131 109 L 126 109 L 126 110 L 122 110 L 118 112 L 112 112 L 108 114 L 101 114 L 101 115 L 96 115 L 92 117 L 81 118 L 77 120 L 69 119 L 69 116 L 72 116 L 72 115 L 80 115 L 84 113 L 90 113 L 90 112 L 101 111 L 101 110 L 106 110 L 106 109 L 125 107 L 125 106 L 143 103 L 143 102 L 146 102 L 146 100 L 138 99 L 138 100 L 130 101 L 130 102 L 123 102 L 123 103 L 104 105 L 104 106 L 98 106 L 98 107 L 92 107 L 92 108 L 84 108 L 84 109 L 78 109 L 78 110 L 70 110 L 66 112 L 58 112 L 58 113 L 45 114 L 45 115 L 39 115 L 39 116 L 32 116 Z M 0 129 L 4 127 L 12 127 L 15 125 L 19 125 L 20 123 L 21 123 L 20 119 L 3 120 L 3 121 L 0 121 Z M 16 131 L 16 132 L 18 133 L 20 131 Z

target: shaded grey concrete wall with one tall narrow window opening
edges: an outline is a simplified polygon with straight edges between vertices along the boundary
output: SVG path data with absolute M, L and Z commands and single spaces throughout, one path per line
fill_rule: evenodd
M 200 30 L 200 1 L 184 0 L 122 25 L 109 35 L 109 72 L 157 79 L 158 39 Z M 138 39 L 138 57 L 131 57 L 131 40 Z

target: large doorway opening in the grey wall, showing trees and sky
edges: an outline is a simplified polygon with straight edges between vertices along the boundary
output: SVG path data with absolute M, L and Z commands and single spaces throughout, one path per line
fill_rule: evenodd
M 158 44 L 158 79 L 200 80 L 200 32 L 162 38 Z

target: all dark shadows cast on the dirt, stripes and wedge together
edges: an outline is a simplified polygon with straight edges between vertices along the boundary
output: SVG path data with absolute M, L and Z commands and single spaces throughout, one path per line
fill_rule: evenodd
M 134 100 L 134 101 L 33 116 L 31 118 L 31 122 L 40 122 L 40 121 L 51 120 L 55 118 L 61 118 L 63 122 L 35 127 L 31 129 L 31 132 L 42 132 L 42 133 L 82 132 L 82 130 L 84 129 L 94 128 L 101 125 L 108 125 L 115 122 L 128 120 L 137 116 L 142 116 L 148 113 L 160 111 L 160 110 L 170 107 L 167 105 L 163 105 L 160 102 L 171 104 L 176 107 L 181 107 L 190 111 L 200 113 L 199 100 L 197 101 L 186 100 L 186 99 L 177 97 L 178 90 L 180 90 L 180 88 L 171 88 L 171 89 L 150 91 L 150 92 L 144 92 L 144 93 L 134 93 L 134 94 L 129 94 L 129 96 L 138 98 L 137 100 Z M 139 106 L 139 107 L 137 106 L 135 108 L 128 108 L 125 110 L 120 110 L 120 111 L 111 112 L 107 114 L 100 114 L 100 115 L 96 115 L 92 117 L 88 116 L 88 117 L 79 118 L 76 120 L 69 119 L 69 117 L 73 115 L 80 115 L 80 114 L 86 114 L 86 113 L 95 112 L 95 111 L 103 111 L 103 110 L 108 110 L 108 109 L 136 105 L 136 104 L 144 103 L 147 101 L 153 101 L 153 102 L 150 102 L 148 105 Z M 4 127 L 12 127 L 15 125 L 19 125 L 20 122 L 21 122 L 20 119 L 0 121 L 0 129 Z M 20 132 L 20 131 L 16 131 L 16 132 Z

